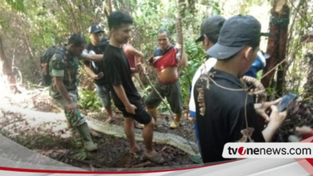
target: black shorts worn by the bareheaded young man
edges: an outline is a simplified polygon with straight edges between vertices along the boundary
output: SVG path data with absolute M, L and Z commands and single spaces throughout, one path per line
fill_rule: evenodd
M 141 124 L 150 123 L 152 120 L 152 117 L 150 116 L 150 114 L 147 113 L 147 111 L 144 108 L 144 106 L 142 105 L 142 103 L 137 102 L 137 103 L 132 103 L 132 104 L 137 107 L 137 109 L 135 110 L 136 114 L 130 114 L 130 113 L 126 112 L 125 107 L 118 107 L 118 109 L 123 113 L 124 117 L 131 117 Z

